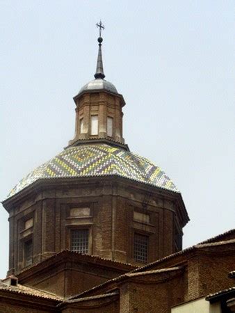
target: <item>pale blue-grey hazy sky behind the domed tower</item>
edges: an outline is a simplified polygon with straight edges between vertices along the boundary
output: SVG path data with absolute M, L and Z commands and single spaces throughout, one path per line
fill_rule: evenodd
M 132 152 L 160 166 L 191 221 L 184 248 L 234 227 L 235 1 L 0 1 L 1 200 L 74 137 L 72 97 L 106 79 Z M 0 278 L 8 214 L 0 208 Z

